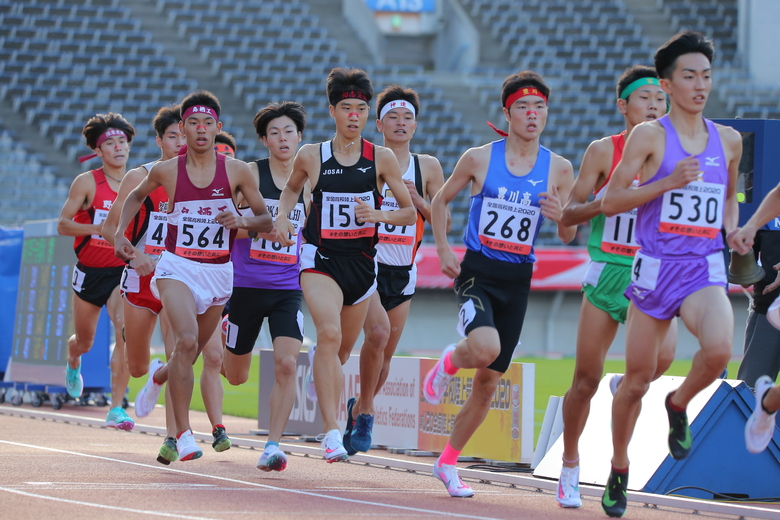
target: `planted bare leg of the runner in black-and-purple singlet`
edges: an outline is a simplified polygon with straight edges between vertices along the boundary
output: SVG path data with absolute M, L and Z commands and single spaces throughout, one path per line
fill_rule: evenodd
M 271 389 L 271 417 L 268 426 L 268 440 L 279 442 L 295 406 L 296 370 L 301 341 L 287 336 L 274 339 L 274 386 Z M 316 381 L 316 379 L 315 379 Z

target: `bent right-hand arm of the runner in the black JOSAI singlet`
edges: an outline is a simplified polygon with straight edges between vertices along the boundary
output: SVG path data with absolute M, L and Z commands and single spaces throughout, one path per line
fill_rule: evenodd
M 377 146 L 375 148 L 377 183 L 381 186 L 387 184 L 390 191 L 393 192 L 398 209 L 395 211 L 382 211 L 374 209 L 365 201 L 355 197 L 358 203 L 355 206 L 355 218 L 358 222 L 385 222 L 386 224 L 396 226 L 411 226 L 417 220 L 417 210 L 412 204 L 412 197 L 404 184 L 401 176 L 401 169 L 398 167 L 398 159 L 388 148 Z

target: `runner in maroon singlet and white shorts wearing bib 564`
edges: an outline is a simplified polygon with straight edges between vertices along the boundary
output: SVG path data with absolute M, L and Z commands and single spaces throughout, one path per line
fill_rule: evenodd
M 149 381 L 136 397 L 136 409 L 142 415 L 148 413 L 157 402 L 162 384 L 170 380 L 169 404 L 179 433 L 177 450 L 167 443 L 160 450 L 160 456 L 169 461 L 197 459 L 203 454 L 189 423 L 192 365 L 219 323 L 232 291 L 230 250 L 235 229 L 267 232 L 272 228 L 246 164 L 214 151 L 214 136 L 222 127 L 216 96 L 206 91 L 192 93 L 182 101 L 181 113 L 179 124 L 186 136 L 186 152 L 156 164 L 128 195 L 115 245 L 120 258 L 135 258 L 132 244 L 121 230 L 143 200 L 163 186 L 172 203 L 168 208 L 166 247 L 155 268 L 151 289 L 166 309 L 175 346 L 168 363 L 150 370 Z M 236 215 L 234 200 L 239 193 L 257 216 Z

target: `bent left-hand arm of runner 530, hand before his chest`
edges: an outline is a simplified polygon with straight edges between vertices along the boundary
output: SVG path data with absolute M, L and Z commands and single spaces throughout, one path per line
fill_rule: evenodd
M 607 191 L 601 200 L 601 211 L 611 217 L 630 211 L 659 197 L 669 190 L 682 188 L 696 180 L 699 175 L 699 161 L 687 157 L 677 163 L 668 177 L 631 188 L 637 174 L 655 175 L 656 171 L 643 171 L 642 167 L 655 154 L 663 154 L 666 132 L 660 123 L 643 123 L 631 132 L 623 149 L 623 158 L 612 173 Z M 642 179 L 644 181 L 645 179 Z

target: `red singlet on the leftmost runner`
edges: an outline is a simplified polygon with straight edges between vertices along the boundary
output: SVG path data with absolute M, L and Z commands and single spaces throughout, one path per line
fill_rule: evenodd
M 103 168 L 92 170 L 95 179 L 95 196 L 92 206 L 80 209 L 73 216 L 73 222 L 79 224 L 101 224 L 106 220 L 108 211 L 116 200 L 116 192 L 108 185 L 108 179 L 103 174 Z M 100 235 L 76 237 L 73 250 L 79 263 L 85 267 L 120 267 L 125 263 L 114 255 L 114 246 L 106 242 Z

